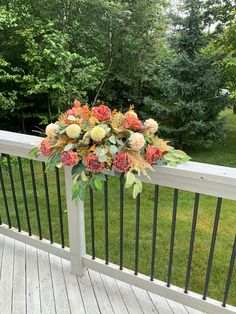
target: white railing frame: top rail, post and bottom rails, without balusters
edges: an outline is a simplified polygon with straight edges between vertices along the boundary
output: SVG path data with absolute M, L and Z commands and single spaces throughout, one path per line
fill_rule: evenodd
M 0 131 L 0 154 L 29 158 L 30 150 L 41 140 L 37 136 Z M 39 157 L 37 160 L 45 161 L 43 157 Z M 150 179 L 142 177 L 142 181 L 236 200 L 236 169 L 234 168 L 189 162 L 176 168 L 157 166 L 155 172 L 150 172 L 149 175 Z M 225 308 L 222 307 L 222 302 L 210 298 L 203 300 L 199 294 L 193 292 L 185 294 L 182 288 L 173 285 L 167 287 L 165 282 L 156 279 L 150 281 L 147 276 L 140 274 L 135 276 L 131 270 L 119 270 L 117 265 L 111 263 L 105 265 L 104 261 L 98 258 L 93 260 L 91 256 L 86 254 L 83 202 L 80 201 L 76 205 L 72 201 L 72 176 L 69 168 L 65 169 L 65 184 L 70 248 L 62 249 L 57 244 L 51 244 L 47 240 L 39 240 L 35 236 L 29 237 L 27 233 L 18 232 L 14 228 L 9 229 L 4 224 L 0 225 L 0 233 L 70 260 L 72 272 L 79 276 L 83 274 L 86 268 L 90 268 L 203 312 L 236 313 L 236 308 L 233 306 L 227 305 Z

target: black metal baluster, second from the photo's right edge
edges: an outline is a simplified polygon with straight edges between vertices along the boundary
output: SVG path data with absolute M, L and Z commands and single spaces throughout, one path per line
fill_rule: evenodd
M 215 251 L 216 235 L 217 235 L 217 229 L 218 229 L 218 224 L 219 224 L 219 219 L 220 219 L 221 204 L 222 204 L 222 198 L 219 197 L 217 200 L 217 205 L 216 205 L 216 214 L 215 214 L 215 221 L 214 221 L 214 227 L 213 227 L 213 233 L 212 233 L 212 239 L 211 239 L 211 248 L 210 248 L 210 253 L 209 253 L 206 278 L 205 278 L 203 300 L 206 300 L 206 296 L 208 292 L 212 261 L 213 261 L 214 251 Z

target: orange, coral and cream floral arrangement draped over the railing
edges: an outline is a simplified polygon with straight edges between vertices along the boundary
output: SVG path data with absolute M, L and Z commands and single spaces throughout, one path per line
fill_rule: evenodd
M 102 189 L 106 171 L 123 176 L 136 198 L 142 191 L 141 173 L 148 176 L 154 165 L 176 166 L 190 159 L 155 135 L 157 130 L 155 120 L 143 123 L 133 107 L 123 114 L 75 100 L 73 108 L 46 127 L 46 139 L 31 154 L 47 156 L 47 169 L 72 167 L 73 199 L 83 199 L 88 184 Z

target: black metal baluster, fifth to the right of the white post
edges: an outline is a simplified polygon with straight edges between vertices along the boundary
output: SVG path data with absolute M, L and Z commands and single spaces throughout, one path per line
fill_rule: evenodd
M 159 194 L 159 186 L 158 186 L 158 185 L 155 185 L 155 190 L 154 190 L 153 227 L 152 227 L 152 261 L 151 261 L 151 277 L 150 277 L 150 280 L 151 280 L 151 281 L 153 281 L 153 279 L 154 279 L 154 269 L 155 269 L 158 194 Z

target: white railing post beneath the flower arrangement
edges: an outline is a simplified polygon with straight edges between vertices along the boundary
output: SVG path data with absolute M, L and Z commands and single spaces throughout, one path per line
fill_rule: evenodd
M 65 167 L 66 202 L 68 214 L 68 229 L 72 273 L 82 276 L 85 272 L 83 256 L 86 254 L 84 202 L 79 200 L 76 204 L 72 200 L 72 175 L 71 168 Z

